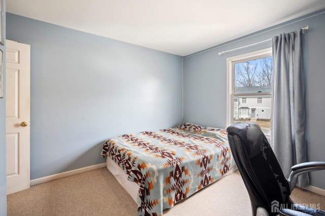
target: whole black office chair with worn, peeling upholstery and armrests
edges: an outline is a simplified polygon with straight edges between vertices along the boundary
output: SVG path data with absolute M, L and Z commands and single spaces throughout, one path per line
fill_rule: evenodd
M 248 191 L 255 215 L 325 215 L 325 211 L 298 205 L 289 198 L 304 172 L 325 169 L 325 162 L 306 162 L 291 167 L 288 180 L 255 122 L 239 122 L 227 128 L 238 170 Z

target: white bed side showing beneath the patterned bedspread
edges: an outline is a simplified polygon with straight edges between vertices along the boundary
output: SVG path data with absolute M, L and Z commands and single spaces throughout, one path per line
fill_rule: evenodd
M 137 203 L 139 185 L 135 182 L 130 182 L 127 180 L 127 174 L 117 165 L 110 157 L 106 158 L 107 169 L 113 174 L 115 179 L 120 183 L 124 190 L 132 197 L 132 199 Z M 225 176 L 232 174 L 237 170 L 237 165 L 233 166 L 224 174 L 220 179 Z M 219 180 L 220 180 L 219 179 Z

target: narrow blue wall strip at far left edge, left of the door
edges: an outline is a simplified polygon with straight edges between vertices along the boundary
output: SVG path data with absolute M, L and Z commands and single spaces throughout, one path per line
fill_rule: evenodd
M 6 38 L 6 0 L 4 0 L 4 36 Z M 6 59 L 5 46 L 0 46 L 3 51 L 4 59 Z M 6 61 L 4 61 L 6 68 Z M 6 75 L 6 70 L 3 71 Z M 5 82 L 4 77 L 4 82 Z M 6 86 L 4 83 L 4 91 Z M 7 185 L 6 185 L 6 98 L 0 98 L 0 216 L 7 215 Z

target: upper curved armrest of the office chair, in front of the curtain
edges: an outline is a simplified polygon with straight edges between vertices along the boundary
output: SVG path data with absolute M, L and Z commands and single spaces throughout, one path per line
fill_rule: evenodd
M 325 162 L 324 161 L 312 161 L 312 162 L 305 162 L 299 163 L 291 167 L 291 173 L 288 178 L 288 182 L 290 185 L 290 192 L 294 190 L 298 176 L 303 174 L 304 172 L 310 172 L 315 170 L 322 170 L 325 169 Z

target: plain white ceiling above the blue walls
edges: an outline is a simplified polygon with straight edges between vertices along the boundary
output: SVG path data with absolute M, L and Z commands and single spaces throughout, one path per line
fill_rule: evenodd
M 321 10 L 324 0 L 7 0 L 7 12 L 186 56 Z

